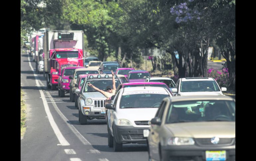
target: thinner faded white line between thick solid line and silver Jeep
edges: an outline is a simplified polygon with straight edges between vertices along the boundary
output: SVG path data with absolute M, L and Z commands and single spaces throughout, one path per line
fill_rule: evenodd
M 41 82 L 41 80 L 39 80 Z M 73 133 L 78 137 L 78 139 L 84 144 L 84 145 L 91 145 L 91 143 L 83 137 L 82 134 L 67 120 L 67 118 L 63 115 L 63 113 L 60 111 L 56 103 L 66 103 L 66 102 L 53 102 L 53 107 L 57 111 L 57 113 L 61 116 L 61 118 L 65 121 L 68 122 L 66 125 L 73 131 Z

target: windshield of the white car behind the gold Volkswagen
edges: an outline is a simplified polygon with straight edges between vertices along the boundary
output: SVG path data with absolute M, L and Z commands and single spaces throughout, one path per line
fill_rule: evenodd
M 216 92 L 220 91 L 215 81 L 183 81 L 181 92 Z

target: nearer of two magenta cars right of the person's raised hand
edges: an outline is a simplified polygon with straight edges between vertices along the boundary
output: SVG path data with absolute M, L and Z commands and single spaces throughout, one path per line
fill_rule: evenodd
M 128 82 L 144 82 L 148 77 L 151 77 L 146 70 L 132 70 L 127 75 Z

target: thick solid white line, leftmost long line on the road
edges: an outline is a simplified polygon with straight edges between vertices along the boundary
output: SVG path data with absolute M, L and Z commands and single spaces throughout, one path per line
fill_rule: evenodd
M 32 65 L 31 65 L 30 57 L 29 57 L 29 56 L 28 56 L 28 60 L 29 60 L 29 66 L 30 66 L 30 68 L 32 69 L 32 71 L 33 71 L 33 73 L 34 73 L 34 76 L 35 76 L 35 79 L 36 79 L 36 84 L 37 84 L 38 87 L 41 87 L 40 84 L 39 84 L 39 82 L 38 82 L 38 79 L 37 79 L 37 76 L 36 76 L 36 74 L 35 74 L 35 71 L 34 71 Z M 62 133 L 61 133 L 59 127 L 57 126 L 56 122 L 54 121 L 53 116 L 52 116 L 52 114 L 51 114 L 51 111 L 50 111 L 50 109 L 49 109 L 49 106 L 48 106 L 48 104 L 47 104 L 47 101 L 46 101 L 46 99 L 45 99 L 45 96 L 44 96 L 43 91 L 42 91 L 42 90 L 39 90 L 39 92 L 40 92 L 40 95 L 41 95 L 42 100 L 43 100 L 43 104 L 44 104 L 44 107 L 45 107 L 45 112 L 46 112 L 46 114 L 47 114 L 47 116 L 48 116 L 49 122 L 50 122 L 50 124 L 51 124 L 51 126 L 52 126 L 52 128 L 53 128 L 53 130 L 54 130 L 55 135 L 57 136 L 57 138 L 58 138 L 58 140 L 60 141 L 60 143 L 61 143 L 62 146 L 70 145 L 70 144 L 67 142 L 67 140 L 64 138 L 64 136 L 62 135 Z

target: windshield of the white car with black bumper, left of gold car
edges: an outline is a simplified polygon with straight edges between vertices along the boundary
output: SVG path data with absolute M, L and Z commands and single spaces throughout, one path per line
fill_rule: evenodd
M 162 100 L 168 96 L 168 94 L 152 93 L 123 95 L 120 108 L 159 108 Z

